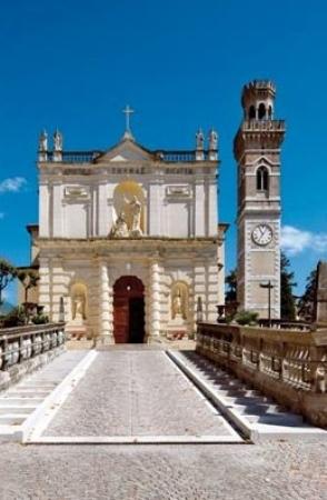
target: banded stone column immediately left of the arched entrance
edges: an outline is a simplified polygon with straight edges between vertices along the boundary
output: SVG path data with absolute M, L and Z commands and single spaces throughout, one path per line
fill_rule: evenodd
M 110 314 L 110 290 L 109 290 L 109 276 L 108 276 L 108 264 L 106 261 L 100 261 L 99 263 L 100 272 L 100 339 L 102 343 L 113 343 L 112 336 L 112 317 Z

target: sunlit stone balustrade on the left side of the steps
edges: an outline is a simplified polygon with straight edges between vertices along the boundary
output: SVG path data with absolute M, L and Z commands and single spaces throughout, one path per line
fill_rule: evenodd
M 1 328 L 0 390 L 54 358 L 65 342 L 65 323 Z

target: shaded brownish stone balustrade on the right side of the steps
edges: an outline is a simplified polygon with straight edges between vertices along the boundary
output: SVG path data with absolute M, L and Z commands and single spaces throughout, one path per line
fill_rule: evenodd
M 327 329 L 201 322 L 197 351 L 310 422 L 327 427 Z

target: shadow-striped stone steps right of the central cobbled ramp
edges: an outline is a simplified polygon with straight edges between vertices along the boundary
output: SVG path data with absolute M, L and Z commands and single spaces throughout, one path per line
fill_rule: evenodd
M 252 441 L 299 436 L 327 438 L 323 429 L 306 423 L 301 416 L 276 404 L 198 353 L 169 351 L 169 357 L 246 438 Z

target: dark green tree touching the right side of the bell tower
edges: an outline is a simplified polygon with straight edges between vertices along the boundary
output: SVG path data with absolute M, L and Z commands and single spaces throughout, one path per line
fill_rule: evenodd
M 280 317 L 294 321 L 296 318 L 295 298 L 293 296 L 294 272 L 289 270 L 290 262 L 285 253 L 280 253 Z

